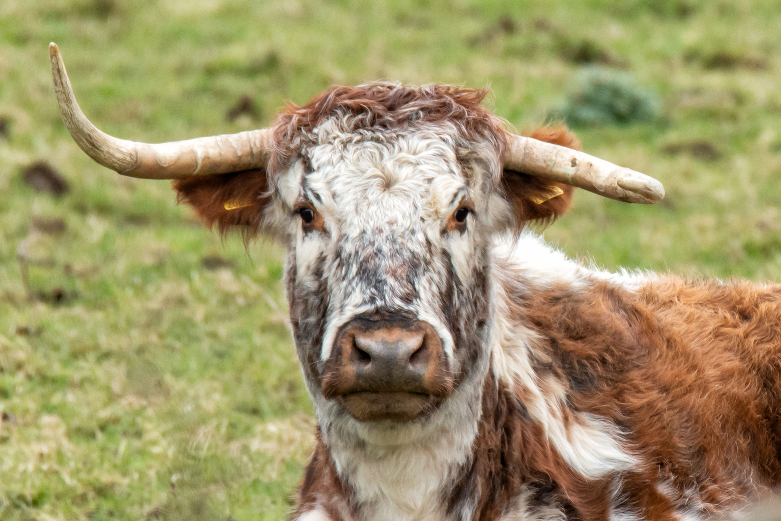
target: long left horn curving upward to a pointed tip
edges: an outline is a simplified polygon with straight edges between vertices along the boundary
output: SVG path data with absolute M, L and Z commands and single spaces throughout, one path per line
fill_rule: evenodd
M 269 162 L 272 137 L 267 129 L 159 145 L 109 136 L 81 112 L 59 48 L 53 42 L 49 44 L 49 58 L 62 121 L 79 148 L 111 170 L 143 179 L 182 179 L 250 170 Z

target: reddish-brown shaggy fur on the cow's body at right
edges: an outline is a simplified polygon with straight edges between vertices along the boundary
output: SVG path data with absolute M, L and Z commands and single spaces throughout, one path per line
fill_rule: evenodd
M 672 521 L 671 499 L 713 513 L 781 484 L 781 287 L 664 277 L 639 294 L 508 290 L 512 318 L 544 338 L 537 372 L 565 383 L 572 410 L 622 426 L 640 456 L 628 509 Z M 583 521 L 605 519 L 562 492 Z

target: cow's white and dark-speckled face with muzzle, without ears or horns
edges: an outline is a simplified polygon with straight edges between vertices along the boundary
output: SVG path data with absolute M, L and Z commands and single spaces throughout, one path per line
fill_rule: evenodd
M 491 209 L 507 205 L 497 162 L 460 160 L 447 126 L 343 127 L 280 177 L 298 355 L 312 394 L 353 418 L 411 421 L 485 366 Z

